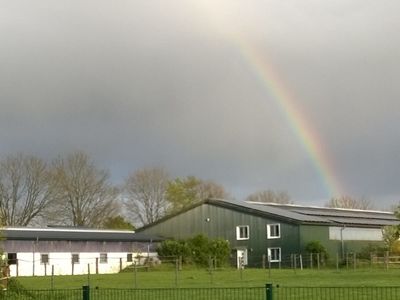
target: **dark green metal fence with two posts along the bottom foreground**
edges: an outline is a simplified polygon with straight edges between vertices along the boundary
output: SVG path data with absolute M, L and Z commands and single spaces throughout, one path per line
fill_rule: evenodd
M 399 287 L 265 287 L 2 291 L 15 300 L 398 300 Z

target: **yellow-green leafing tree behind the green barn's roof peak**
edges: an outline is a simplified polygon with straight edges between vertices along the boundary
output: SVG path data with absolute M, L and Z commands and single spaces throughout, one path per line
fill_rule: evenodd
M 225 188 L 213 181 L 205 181 L 194 176 L 176 178 L 168 183 L 167 199 L 171 211 L 179 211 L 188 205 L 208 198 L 228 198 Z

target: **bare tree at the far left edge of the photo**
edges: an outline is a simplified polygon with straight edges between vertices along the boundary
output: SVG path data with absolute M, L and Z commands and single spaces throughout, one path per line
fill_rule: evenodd
M 22 154 L 0 162 L 0 217 L 4 225 L 26 226 L 54 199 L 44 161 Z

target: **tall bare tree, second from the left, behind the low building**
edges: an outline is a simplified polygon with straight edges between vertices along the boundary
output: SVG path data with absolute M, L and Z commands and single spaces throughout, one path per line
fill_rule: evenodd
M 98 169 L 83 152 L 58 158 L 53 163 L 58 192 L 58 222 L 73 226 L 101 227 L 118 210 L 118 190 L 109 183 L 106 170 Z

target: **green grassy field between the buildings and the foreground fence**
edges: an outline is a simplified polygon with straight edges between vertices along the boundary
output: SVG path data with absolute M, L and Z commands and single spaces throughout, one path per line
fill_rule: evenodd
M 136 277 L 136 279 L 135 279 Z M 277 270 L 262 269 L 217 270 L 174 269 L 123 272 L 110 275 L 52 277 L 19 277 L 27 289 L 69 289 L 83 285 L 99 288 L 200 288 L 200 287 L 262 287 L 266 283 L 282 287 L 385 287 L 400 286 L 400 270 Z

